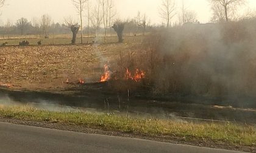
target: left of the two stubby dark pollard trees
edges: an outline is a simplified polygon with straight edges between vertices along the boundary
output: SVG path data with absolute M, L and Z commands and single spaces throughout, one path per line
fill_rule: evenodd
M 71 44 L 76 44 L 76 35 L 80 29 L 80 25 L 78 25 L 78 23 L 74 21 L 72 18 L 65 18 L 65 24 L 70 28 L 73 35 Z

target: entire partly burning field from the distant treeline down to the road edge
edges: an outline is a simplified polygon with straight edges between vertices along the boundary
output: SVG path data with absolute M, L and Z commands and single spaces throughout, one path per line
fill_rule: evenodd
M 0 47 L 4 100 L 87 107 L 107 115 L 31 107 L 2 107 L 0 114 L 255 147 L 255 40 L 247 33 L 241 41 L 229 26 L 160 30 L 125 36 L 124 43 L 116 43 L 116 36 L 108 36 L 107 43 L 100 36 L 88 44 L 70 45 L 69 36 L 62 35 L 43 39 L 41 46 L 39 38 L 29 36 L 2 39 L 9 42 Z M 236 35 L 243 36 L 243 30 L 238 26 Z M 21 40 L 29 40 L 30 46 L 17 46 Z M 110 115 L 118 113 L 126 117 Z M 133 118 L 143 113 L 149 117 Z

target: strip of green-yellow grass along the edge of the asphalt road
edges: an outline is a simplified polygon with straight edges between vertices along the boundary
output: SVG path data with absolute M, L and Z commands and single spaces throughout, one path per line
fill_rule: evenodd
M 253 126 L 219 123 L 180 123 L 170 120 L 87 114 L 84 112 L 49 112 L 32 107 L 0 106 L 0 116 L 30 121 L 79 124 L 106 131 L 149 136 L 181 137 L 185 140 L 218 141 L 241 146 L 256 146 Z

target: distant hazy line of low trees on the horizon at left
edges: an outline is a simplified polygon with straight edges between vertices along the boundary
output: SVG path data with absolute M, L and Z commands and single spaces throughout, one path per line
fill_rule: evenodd
M 126 19 L 126 28 L 124 33 L 127 35 L 138 35 L 138 33 L 149 32 L 153 29 L 150 24 L 138 24 L 136 19 Z M 88 27 L 84 27 L 84 33 L 87 34 Z M 89 34 L 96 35 L 96 33 L 104 33 L 103 27 L 89 27 Z M 112 27 L 108 27 L 109 34 L 115 34 Z M 49 35 L 67 35 L 70 34 L 69 27 L 65 23 L 54 22 L 49 15 L 41 16 L 40 21 L 32 19 L 29 21 L 26 18 L 18 19 L 14 24 L 7 21 L 0 26 L 0 35 L 37 35 L 48 37 Z

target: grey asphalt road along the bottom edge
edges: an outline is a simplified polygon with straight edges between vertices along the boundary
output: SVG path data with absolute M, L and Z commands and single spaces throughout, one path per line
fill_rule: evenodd
M 160 143 L 137 138 L 59 131 L 0 122 L 0 152 L 209 152 L 221 149 Z

